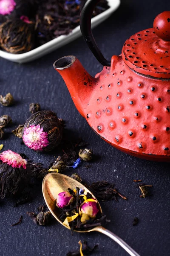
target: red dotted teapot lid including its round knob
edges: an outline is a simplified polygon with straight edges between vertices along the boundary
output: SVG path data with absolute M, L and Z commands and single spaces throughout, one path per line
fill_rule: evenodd
M 170 11 L 155 18 L 153 29 L 128 38 L 122 58 L 128 67 L 142 75 L 170 79 Z

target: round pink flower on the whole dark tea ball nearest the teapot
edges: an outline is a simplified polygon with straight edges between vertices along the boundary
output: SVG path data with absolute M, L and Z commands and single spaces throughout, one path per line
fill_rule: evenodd
M 40 128 L 40 125 L 30 125 L 24 129 L 23 142 L 28 148 L 42 151 L 49 144 L 48 134 Z

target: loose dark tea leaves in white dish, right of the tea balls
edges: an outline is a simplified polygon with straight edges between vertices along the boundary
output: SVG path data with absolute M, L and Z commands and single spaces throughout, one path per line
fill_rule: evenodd
M 68 35 L 79 26 L 79 16 L 86 0 L 42 0 L 36 15 L 38 40 L 40 44 Z M 93 17 L 109 8 L 106 0 L 97 4 Z

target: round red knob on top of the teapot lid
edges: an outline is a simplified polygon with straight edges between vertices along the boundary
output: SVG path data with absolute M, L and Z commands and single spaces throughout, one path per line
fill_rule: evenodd
M 170 41 L 170 11 L 161 12 L 153 22 L 156 35 L 164 41 Z

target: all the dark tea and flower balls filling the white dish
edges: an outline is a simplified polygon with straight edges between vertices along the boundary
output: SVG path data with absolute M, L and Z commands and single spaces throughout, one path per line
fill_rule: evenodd
M 5 0 L 0 0 L 0 2 Z M 0 47 L 7 52 L 23 53 L 79 26 L 82 6 L 87 0 L 11 0 L 0 8 Z M 109 8 L 101 0 L 93 17 Z

